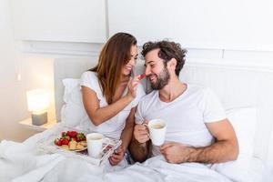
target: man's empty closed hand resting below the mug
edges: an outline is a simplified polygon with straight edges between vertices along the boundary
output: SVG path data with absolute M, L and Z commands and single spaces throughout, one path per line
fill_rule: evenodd
M 160 152 L 166 158 L 167 162 L 173 164 L 187 162 L 191 150 L 192 148 L 176 142 L 169 142 L 160 147 Z

